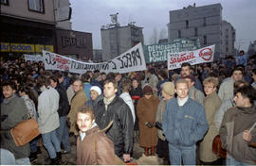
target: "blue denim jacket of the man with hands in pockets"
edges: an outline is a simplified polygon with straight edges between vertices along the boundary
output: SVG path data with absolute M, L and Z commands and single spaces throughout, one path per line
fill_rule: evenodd
M 191 98 L 179 107 L 174 98 L 165 106 L 162 128 L 169 143 L 181 147 L 195 145 L 208 130 L 205 108 Z

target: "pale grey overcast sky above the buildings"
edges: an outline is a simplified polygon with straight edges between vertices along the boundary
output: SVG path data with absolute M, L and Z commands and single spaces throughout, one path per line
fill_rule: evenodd
M 101 25 L 111 23 L 110 14 L 119 12 L 119 24 L 136 22 L 144 27 L 144 43 L 149 44 L 154 28 L 166 30 L 169 11 L 196 4 L 201 7 L 220 3 L 223 20 L 236 29 L 235 47 L 247 51 L 256 41 L 256 0 L 70 0 L 72 28 L 93 35 L 93 48 L 101 49 Z

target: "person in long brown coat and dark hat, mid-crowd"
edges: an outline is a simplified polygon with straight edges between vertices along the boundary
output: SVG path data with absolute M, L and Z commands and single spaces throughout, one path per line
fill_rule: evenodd
M 155 156 L 157 129 L 154 126 L 155 113 L 159 99 L 153 95 L 151 86 L 143 88 L 143 97 L 137 102 L 137 118 L 139 126 L 139 144 L 144 148 L 145 156 Z

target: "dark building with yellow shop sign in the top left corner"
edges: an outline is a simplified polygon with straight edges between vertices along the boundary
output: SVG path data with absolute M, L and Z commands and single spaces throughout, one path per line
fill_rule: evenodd
M 21 58 L 23 54 L 54 52 L 55 18 L 53 1 L 1 0 L 2 59 Z

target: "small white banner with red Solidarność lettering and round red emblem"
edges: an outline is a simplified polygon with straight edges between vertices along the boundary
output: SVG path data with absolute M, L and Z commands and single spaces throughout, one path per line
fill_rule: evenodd
M 189 62 L 191 65 L 212 62 L 214 49 L 215 45 L 210 45 L 194 51 L 170 53 L 167 60 L 168 70 L 181 68 L 184 62 Z

